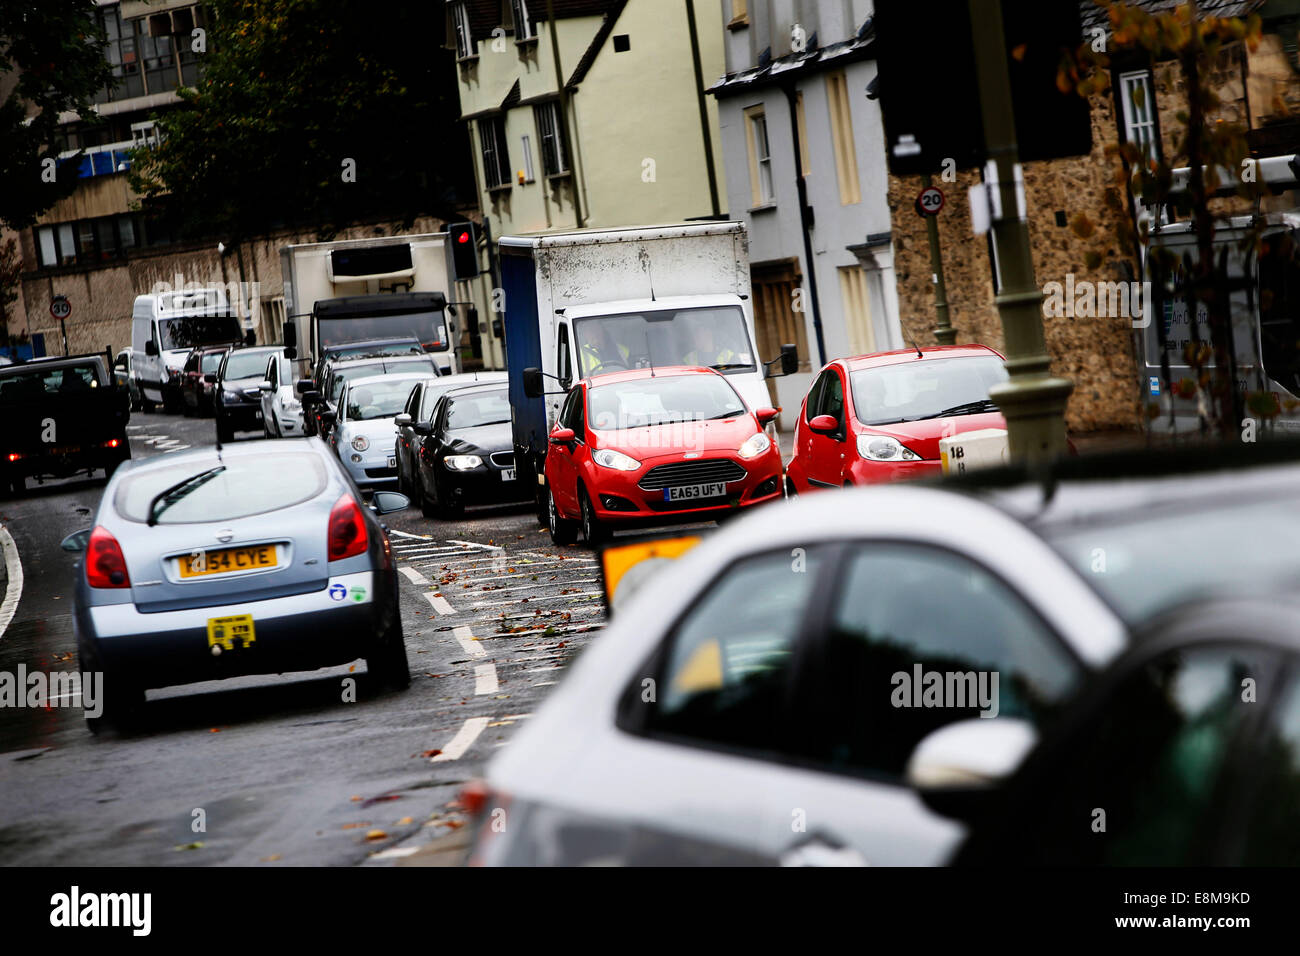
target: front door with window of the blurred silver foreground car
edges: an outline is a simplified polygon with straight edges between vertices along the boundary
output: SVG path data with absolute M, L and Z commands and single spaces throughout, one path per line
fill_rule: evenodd
M 1086 671 L 1034 607 L 962 554 L 866 541 L 831 566 L 790 705 L 792 766 L 766 792 L 764 851 L 786 862 L 945 862 L 965 826 L 907 786 L 916 745 L 982 714 L 1050 724 Z M 953 696 L 926 697 L 935 679 Z

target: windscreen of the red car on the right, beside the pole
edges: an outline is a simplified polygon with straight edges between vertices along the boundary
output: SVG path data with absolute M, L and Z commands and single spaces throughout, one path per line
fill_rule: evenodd
M 996 355 L 905 362 L 850 372 L 853 410 L 864 425 L 920 421 L 940 415 L 993 411 L 980 407 L 988 392 L 1008 378 Z M 961 408 L 962 411 L 954 411 Z

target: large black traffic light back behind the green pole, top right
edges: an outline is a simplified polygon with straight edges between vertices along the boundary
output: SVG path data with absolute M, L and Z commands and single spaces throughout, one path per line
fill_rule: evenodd
M 1088 101 L 1056 85 L 1062 53 L 1084 40 L 1079 0 L 1002 0 L 1001 5 L 1020 161 L 1092 152 Z M 941 173 L 945 160 L 957 169 L 983 165 L 968 4 L 876 0 L 872 26 L 889 170 Z

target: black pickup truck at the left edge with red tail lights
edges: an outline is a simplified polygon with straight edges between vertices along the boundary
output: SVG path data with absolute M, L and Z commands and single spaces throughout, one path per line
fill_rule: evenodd
M 0 492 L 22 494 L 29 477 L 107 477 L 131 457 L 131 398 L 112 369 L 98 352 L 0 367 Z

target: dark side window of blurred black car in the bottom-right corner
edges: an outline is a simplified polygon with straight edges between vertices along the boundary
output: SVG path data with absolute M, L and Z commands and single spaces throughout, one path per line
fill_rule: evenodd
M 1214 862 L 1226 819 L 1221 775 L 1261 706 L 1243 682 L 1271 670 L 1247 644 L 1179 648 L 1138 666 L 1017 782 L 1005 818 L 971 839 L 963 861 Z

